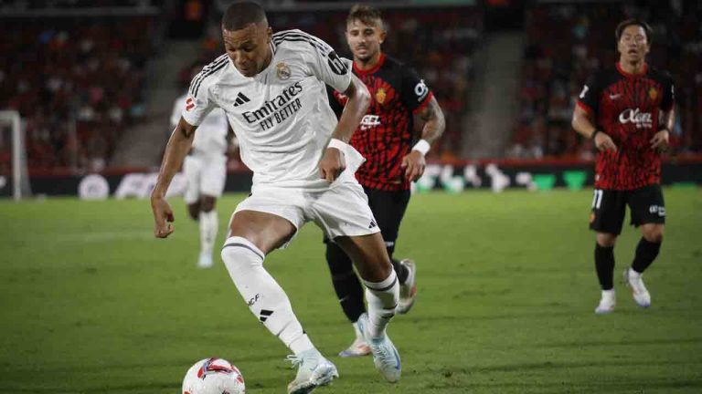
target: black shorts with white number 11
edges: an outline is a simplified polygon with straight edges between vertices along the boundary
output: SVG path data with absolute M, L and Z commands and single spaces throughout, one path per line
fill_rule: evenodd
M 590 229 L 598 233 L 622 233 L 626 205 L 635 227 L 665 223 L 665 202 L 661 185 L 652 184 L 629 191 L 595 189 L 590 213 Z

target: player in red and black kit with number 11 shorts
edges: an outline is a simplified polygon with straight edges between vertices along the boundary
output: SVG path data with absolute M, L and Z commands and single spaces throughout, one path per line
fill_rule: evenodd
M 595 268 L 602 290 L 597 314 L 611 313 L 616 304 L 614 244 L 622 232 L 627 204 L 631 223 L 641 229 L 642 238 L 633 264 L 624 271 L 624 281 L 631 286 L 636 304 L 651 305 L 642 274 L 663 242 L 660 153 L 668 147 L 675 121 L 673 80 L 645 61 L 651 49 L 651 27 L 629 19 L 617 26 L 615 36 L 619 62 L 588 80 L 573 113 L 573 128 L 594 140 L 600 150 L 590 215 L 590 229 L 597 232 Z

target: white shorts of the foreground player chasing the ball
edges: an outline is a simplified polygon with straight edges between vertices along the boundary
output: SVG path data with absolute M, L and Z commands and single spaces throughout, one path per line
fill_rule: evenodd
M 335 182 L 319 192 L 257 187 L 249 198 L 237 205 L 234 214 L 239 211 L 271 213 L 293 223 L 297 230 L 304 223 L 314 222 L 331 240 L 342 235 L 361 236 L 380 231 L 368 207 L 367 195 L 356 179 Z

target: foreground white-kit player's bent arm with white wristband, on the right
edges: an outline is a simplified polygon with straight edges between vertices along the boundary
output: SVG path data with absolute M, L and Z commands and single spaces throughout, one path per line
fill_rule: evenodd
M 336 144 L 339 143 L 339 141 L 348 143 L 348 141 L 351 140 L 351 136 L 354 135 L 354 131 L 356 131 L 356 128 L 361 123 L 361 119 L 366 115 L 366 111 L 370 105 L 370 93 L 368 93 L 368 88 L 353 74 L 351 75 L 351 83 L 348 85 L 348 88 L 346 88 L 344 94 L 348 97 L 346 107 L 341 114 L 341 118 L 339 118 L 339 122 L 336 124 L 336 129 L 332 134 L 332 141 L 324 151 L 322 161 L 319 162 L 320 177 L 330 183 L 335 181 L 346 168 L 344 155 Z M 338 141 L 335 142 L 334 140 Z M 335 145 L 337 147 L 335 147 Z

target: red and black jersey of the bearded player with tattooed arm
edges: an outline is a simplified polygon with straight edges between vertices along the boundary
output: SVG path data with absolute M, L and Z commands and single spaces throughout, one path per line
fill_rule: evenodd
M 371 103 L 350 144 L 366 162 L 356 171 L 356 179 L 367 188 L 383 191 L 409 190 L 410 182 L 400 167 L 402 158 L 415 140 L 413 114 L 429 103 L 433 94 L 417 73 L 398 60 L 380 54 L 378 64 L 354 74 L 367 86 Z M 337 116 L 348 98 L 329 89 L 329 102 Z

